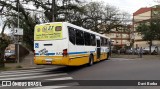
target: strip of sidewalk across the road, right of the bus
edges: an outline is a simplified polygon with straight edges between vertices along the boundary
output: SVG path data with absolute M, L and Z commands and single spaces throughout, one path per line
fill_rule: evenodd
M 113 54 L 112 58 L 127 58 L 127 59 L 158 59 L 160 60 L 160 55 L 142 55 L 140 58 L 138 55 L 124 55 L 124 54 Z

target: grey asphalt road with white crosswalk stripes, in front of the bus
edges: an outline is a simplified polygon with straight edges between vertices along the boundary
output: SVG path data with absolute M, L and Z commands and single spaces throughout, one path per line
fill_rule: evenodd
M 0 86 L 1 89 L 160 89 L 160 86 L 107 86 L 107 82 L 118 80 L 160 80 L 160 60 L 111 58 L 89 67 L 49 66 L 43 69 L 6 71 L 0 73 L 1 80 L 38 81 L 47 85 L 42 87 Z M 124 84 L 123 81 L 122 84 Z M 127 85 L 127 81 L 125 84 Z

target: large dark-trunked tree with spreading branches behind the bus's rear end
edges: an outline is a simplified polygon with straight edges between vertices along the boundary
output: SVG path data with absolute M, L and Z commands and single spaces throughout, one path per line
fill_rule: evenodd
M 25 8 L 24 5 L 31 2 L 35 8 L 41 8 L 44 11 L 45 16 L 42 19 L 37 19 L 36 13 Z M 12 30 L 18 27 L 19 18 L 19 27 L 24 30 L 23 43 L 33 50 L 34 26 L 43 22 L 52 22 L 53 16 L 55 21 L 66 21 L 66 10 L 73 10 L 76 7 L 73 3 L 76 2 L 79 3 L 79 0 L 0 0 L 0 11 L 4 15 L 6 25 Z M 62 14 L 65 18 L 61 18 Z

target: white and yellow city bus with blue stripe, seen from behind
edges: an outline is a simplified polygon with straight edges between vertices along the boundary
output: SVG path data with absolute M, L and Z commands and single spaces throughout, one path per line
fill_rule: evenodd
M 38 24 L 34 29 L 34 63 L 93 65 L 109 58 L 110 38 L 68 22 Z

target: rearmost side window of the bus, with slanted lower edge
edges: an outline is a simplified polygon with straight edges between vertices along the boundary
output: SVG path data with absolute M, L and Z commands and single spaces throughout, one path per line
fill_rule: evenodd
M 75 45 L 76 43 L 76 32 L 74 30 L 74 28 L 68 27 L 68 32 L 69 32 L 69 41 Z

